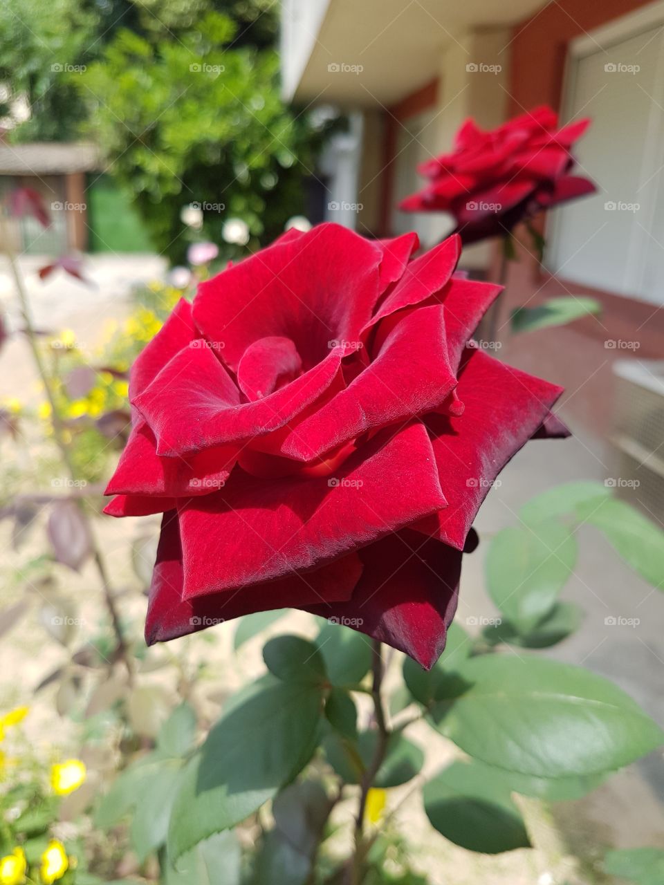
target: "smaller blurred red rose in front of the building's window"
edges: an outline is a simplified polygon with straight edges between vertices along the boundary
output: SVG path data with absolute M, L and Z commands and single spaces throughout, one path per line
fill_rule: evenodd
M 595 191 L 592 181 L 570 174 L 570 149 L 590 125 L 581 119 L 558 129 L 558 116 L 540 107 L 483 132 L 468 119 L 450 154 L 422 164 L 429 178 L 399 204 L 405 212 L 451 212 L 463 242 L 504 236 L 541 209 Z

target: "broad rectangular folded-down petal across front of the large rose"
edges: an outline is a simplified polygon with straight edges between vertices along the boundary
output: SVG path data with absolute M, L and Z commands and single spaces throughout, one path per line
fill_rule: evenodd
M 235 470 L 181 507 L 184 598 L 306 571 L 445 506 L 420 422 L 376 435 L 336 477 L 269 482 Z

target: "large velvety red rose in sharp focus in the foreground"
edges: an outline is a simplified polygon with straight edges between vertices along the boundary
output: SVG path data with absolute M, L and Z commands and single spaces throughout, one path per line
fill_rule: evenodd
M 181 301 L 131 373 L 114 516 L 164 512 L 146 639 L 292 606 L 431 666 L 490 483 L 560 388 L 470 335 L 459 237 L 295 230 Z

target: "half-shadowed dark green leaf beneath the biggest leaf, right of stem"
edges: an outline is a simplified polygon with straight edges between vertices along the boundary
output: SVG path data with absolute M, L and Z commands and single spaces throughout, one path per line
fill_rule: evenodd
M 454 762 L 424 787 L 424 809 L 433 827 L 469 851 L 498 854 L 528 848 L 521 813 L 506 773 L 474 761 Z

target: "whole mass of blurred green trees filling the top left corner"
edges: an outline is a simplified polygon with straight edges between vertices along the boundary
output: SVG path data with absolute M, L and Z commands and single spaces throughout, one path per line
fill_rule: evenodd
M 250 239 L 225 245 L 233 258 L 305 212 L 328 131 L 283 104 L 277 31 L 275 0 L 6 0 L 0 117 L 16 142 L 97 142 L 173 262 L 189 204 L 204 216 L 197 237 L 221 242 L 242 219 Z

